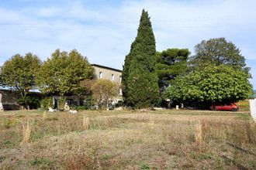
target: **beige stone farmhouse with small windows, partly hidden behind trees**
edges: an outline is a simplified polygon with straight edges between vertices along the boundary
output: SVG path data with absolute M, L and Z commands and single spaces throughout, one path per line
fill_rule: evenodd
M 95 69 L 95 79 L 106 79 L 121 84 L 122 70 L 114 69 L 108 66 L 101 66 L 98 64 L 92 64 Z M 0 90 L 0 110 L 18 110 L 19 104 L 16 100 L 19 98 L 19 94 L 12 90 Z M 57 108 L 59 97 L 54 96 L 54 108 Z M 76 105 L 81 106 L 84 104 L 85 96 L 67 96 L 65 110 L 69 110 L 69 106 Z M 113 100 L 117 102 L 122 100 L 122 89 L 119 89 L 119 96 Z

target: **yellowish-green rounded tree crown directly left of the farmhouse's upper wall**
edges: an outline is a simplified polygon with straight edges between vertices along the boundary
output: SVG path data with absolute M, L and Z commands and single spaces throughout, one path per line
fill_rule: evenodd
M 64 97 L 67 94 L 83 93 L 81 81 L 93 77 L 94 70 L 85 56 L 76 49 L 71 50 L 70 53 L 57 49 L 52 53 L 51 58 L 43 63 L 36 82 L 43 93 Z

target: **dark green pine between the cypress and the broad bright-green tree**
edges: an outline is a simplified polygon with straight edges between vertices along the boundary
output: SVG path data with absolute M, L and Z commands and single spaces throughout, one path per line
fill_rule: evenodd
M 189 49 L 166 49 L 156 53 L 158 85 L 163 92 L 178 75 L 187 73 Z

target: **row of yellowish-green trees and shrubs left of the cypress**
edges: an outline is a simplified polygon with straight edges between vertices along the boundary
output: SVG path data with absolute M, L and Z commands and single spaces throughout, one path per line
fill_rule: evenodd
M 52 107 L 53 96 L 59 97 L 58 107 L 63 108 L 65 97 L 70 95 L 91 97 L 90 107 L 106 107 L 118 94 L 118 84 L 94 79 L 95 70 L 76 49 L 69 53 L 57 49 L 44 62 L 33 53 L 16 54 L 5 61 L 1 70 L 1 86 L 16 90 L 20 95 L 18 103 L 25 108 L 40 107 L 39 98 L 31 95 L 31 90 L 40 90 L 45 98 L 41 105 L 46 108 Z

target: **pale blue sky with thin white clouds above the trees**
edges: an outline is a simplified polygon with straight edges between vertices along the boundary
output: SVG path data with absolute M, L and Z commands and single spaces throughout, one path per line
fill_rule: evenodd
M 157 51 L 225 37 L 251 67 L 256 89 L 254 0 L 0 0 L 0 65 L 16 53 L 45 60 L 55 49 L 78 49 L 90 63 L 123 68 L 144 8 Z

